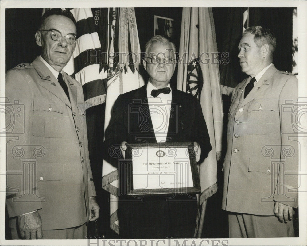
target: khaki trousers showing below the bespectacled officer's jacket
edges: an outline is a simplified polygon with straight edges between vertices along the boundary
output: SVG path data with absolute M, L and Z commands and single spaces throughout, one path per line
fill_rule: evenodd
M 21 239 L 17 229 L 11 228 L 12 239 Z M 87 225 L 83 225 L 59 229 L 59 230 L 43 230 L 43 239 L 86 239 Z

